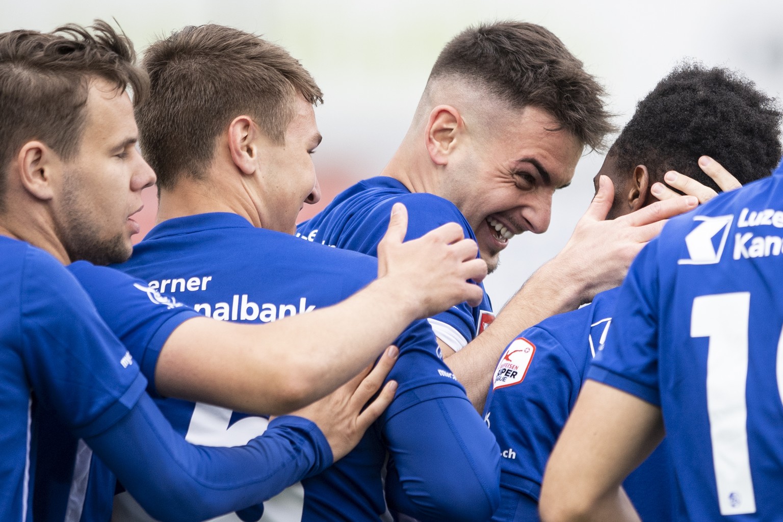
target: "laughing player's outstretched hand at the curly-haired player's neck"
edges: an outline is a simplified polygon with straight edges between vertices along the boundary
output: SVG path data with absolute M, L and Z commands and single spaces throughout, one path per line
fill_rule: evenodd
M 658 236 L 666 220 L 698 206 L 695 196 L 677 196 L 606 220 L 614 192 L 612 180 L 601 176 L 598 192 L 577 222 L 571 239 L 547 263 L 555 272 L 554 280 L 572 285 L 571 295 L 578 301 L 572 305 L 589 302 L 596 293 L 622 283 L 633 258 Z

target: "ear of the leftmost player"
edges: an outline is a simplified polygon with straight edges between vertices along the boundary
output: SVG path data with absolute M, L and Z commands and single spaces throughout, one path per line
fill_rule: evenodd
M 56 177 L 62 175 L 63 161 L 45 143 L 25 143 L 16 154 L 16 162 L 9 175 L 16 175 L 23 188 L 38 200 L 51 200 L 55 193 Z

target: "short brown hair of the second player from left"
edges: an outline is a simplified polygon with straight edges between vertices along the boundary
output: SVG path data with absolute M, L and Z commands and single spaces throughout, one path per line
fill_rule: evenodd
M 295 95 L 323 103 L 316 82 L 285 49 L 232 27 L 185 27 L 150 45 L 142 64 L 151 94 L 136 108 L 139 141 L 164 189 L 181 176 L 203 178 L 217 137 L 240 114 L 283 142 Z

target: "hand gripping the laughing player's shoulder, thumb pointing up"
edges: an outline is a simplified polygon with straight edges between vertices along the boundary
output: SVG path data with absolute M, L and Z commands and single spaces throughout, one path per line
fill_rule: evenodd
M 378 277 L 395 281 L 395 290 L 406 303 L 420 307 L 423 319 L 455 304 L 467 301 L 476 306 L 482 301 L 481 282 L 487 265 L 478 259 L 478 246 L 464 239 L 462 227 L 446 223 L 418 239 L 403 243 L 408 229 L 405 205 L 395 203 L 388 230 L 378 243 Z

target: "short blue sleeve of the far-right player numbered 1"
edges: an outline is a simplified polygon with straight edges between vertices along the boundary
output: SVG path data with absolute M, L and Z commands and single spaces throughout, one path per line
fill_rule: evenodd
M 587 377 L 660 406 L 658 385 L 658 252 L 653 239 L 631 265 L 618 294 L 612 335 Z M 619 349 L 622 344 L 622 349 Z

